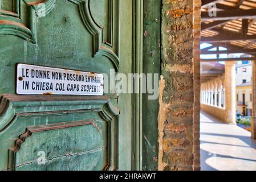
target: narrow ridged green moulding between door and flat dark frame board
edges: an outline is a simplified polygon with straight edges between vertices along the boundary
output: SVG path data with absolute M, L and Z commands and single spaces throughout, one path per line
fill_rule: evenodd
M 133 57 L 132 72 L 143 73 L 143 0 L 133 0 Z M 139 83 L 141 88 L 141 81 Z M 133 86 L 135 88 L 135 86 Z M 132 170 L 142 170 L 142 93 L 132 94 Z

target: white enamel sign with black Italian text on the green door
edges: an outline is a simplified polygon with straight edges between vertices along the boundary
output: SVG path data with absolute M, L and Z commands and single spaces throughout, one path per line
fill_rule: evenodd
M 103 75 L 18 64 L 16 92 L 26 95 L 103 96 Z

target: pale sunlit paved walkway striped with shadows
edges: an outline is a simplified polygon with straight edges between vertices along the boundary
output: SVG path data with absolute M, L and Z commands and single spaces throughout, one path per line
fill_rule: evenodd
M 250 132 L 201 112 L 202 171 L 256 170 L 256 140 Z

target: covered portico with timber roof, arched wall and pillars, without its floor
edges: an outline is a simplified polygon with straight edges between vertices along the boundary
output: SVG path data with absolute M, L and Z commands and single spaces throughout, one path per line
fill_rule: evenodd
M 221 119 L 222 122 L 235 125 L 237 105 L 235 65 L 237 61 L 252 61 L 251 137 L 254 139 L 256 139 L 255 9 L 256 2 L 249 3 L 246 0 L 202 0 L 201 8 L 201 43 L 209 44 L 208 47 L 201 48 L 201 110 Z

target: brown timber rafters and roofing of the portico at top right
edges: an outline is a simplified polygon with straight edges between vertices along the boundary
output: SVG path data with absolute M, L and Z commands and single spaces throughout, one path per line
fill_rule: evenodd
M 216 3 L 217 16 L 209 15 L 207 8 Z M 212 44 L 202 54 L 245 53 L 256 56 L 256 1 L 255 0 L 202 0 L 201 42 Z M 218 50 L 218 46 L 227 51 Z M 225 46 L 227 45 L 227 46 Z M 209 49 L 217 47 L 217 51 Z M 245 57 L 242 60 L 254 60 Z M 222 61 L 222 59 L 216 59 Z

